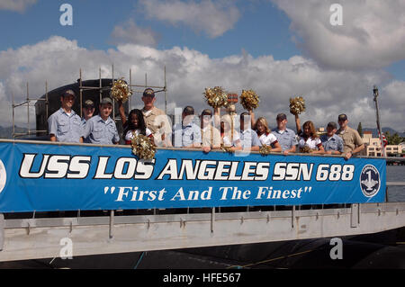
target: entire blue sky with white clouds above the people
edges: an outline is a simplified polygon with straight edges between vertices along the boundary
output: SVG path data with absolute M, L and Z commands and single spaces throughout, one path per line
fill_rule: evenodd
M 72 25 L 60 23 L 64 3 Z M 11 126 L 12 94 L 23 102 L 26 82 L 36 97 L 45 80 L 49 89 L 74 83 L 80 67 L 84 79 L 99 67 L 111 77 L 113 64 L 114 76 L 128 79 L 131 68 L 141 85 L 145 73 L 164 85 L 166 66 L 169 113 L 201 112 L 205 87 L 254 89 L 257 116 L 271 126 L 302 95 L 302 121 L 325 126 L 345 112 L 352 127 L 374 128 L 378 85 L 383 126 L 405 130 L 405 0 L 0 0 L 0 31 L 1 126 Z M 21 110 L 16 122 L 25 121 Z

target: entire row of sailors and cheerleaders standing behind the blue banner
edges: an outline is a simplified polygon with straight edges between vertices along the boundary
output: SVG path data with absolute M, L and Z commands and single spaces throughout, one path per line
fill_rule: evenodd
M 48 120 L 50 140 L 103 145 L 120 142 L 115 122 L 110 117 L 111 98 L 102 99 L 98 115 L 94 115 L 93 101 L 85 101 L 82 118 L 72 109 L 75 100 L 76 94 L 72 90 L 60 96 L 61 107 Z M 165 112 L 155 107 L 155 101 L 153 89 L 146 89 L 142 95 L 144 107 L 131 110 L 128 116 L 125 115 L 122 102 L 118 101 L 125 144 L 130 144 L 134 136 L 141 134 L 152 140 L 157 147 L 202 148 L 206 153 L 223 147 L 229 151 L 258 151 L 266 145 L 271 147 L 271 151 L 284 155 L 305 150 L 314 154 L 343 155 L 347 159 L 365 148 L 357 130 L 347 126 L 346 114 L 338 116 L 339 129 L 331 121 L 327 125 L 327 133 L 319 136 L 312 121 L 304 122 L 301 127 L 298 115 L 295 115 L 295 134 L 287 128 L 288 121 L 284 113 L 277 115 L 277 128 L 272 131 L 266 118 L 255 120 L 253 111 L 242 112 L 238 117 L 234 112 L 220 116 L 220 108 L 213 112 L 204 109 L 200 121 L 195 121 L 193 107 L 186 106 L 182 112 L 182 121 L 172 129 Z

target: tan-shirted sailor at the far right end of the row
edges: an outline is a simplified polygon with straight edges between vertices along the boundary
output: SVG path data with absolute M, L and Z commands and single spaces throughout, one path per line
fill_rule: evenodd
M 358 131 L 347 126 L 348 121 L 346 114 L 340 114 L 338 116 L 338 122 L 340 129 L 337 133 L 338 136 L 343 139 L 344 143 L 343 155 L 346 159 L 349 159 L 354 154 L 362 151 L 365 148 L 365 144 L 363 143 L 363 139 L 358 134 Z

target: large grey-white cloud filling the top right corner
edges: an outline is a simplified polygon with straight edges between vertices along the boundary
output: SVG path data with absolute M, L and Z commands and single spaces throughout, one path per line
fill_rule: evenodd
M 403 0 L 340 0 L 342 26 L 329 22 L 336 0 L 272 1 L 292 20 L 298 46 L 322 66 L 380 68 L 405 58 Z

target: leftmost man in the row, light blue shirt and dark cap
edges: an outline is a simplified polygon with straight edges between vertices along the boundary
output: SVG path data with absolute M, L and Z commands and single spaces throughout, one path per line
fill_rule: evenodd
M 61 107 L 48 119 L 50 141 L 83 143 L 80 117 L 72 110 L 76 94 L 72 90 L 60 95 Z

